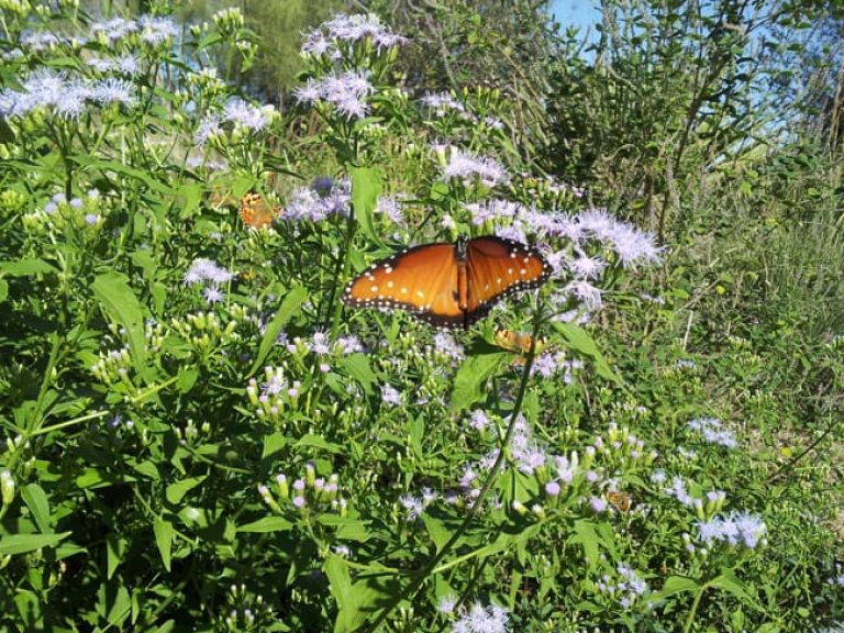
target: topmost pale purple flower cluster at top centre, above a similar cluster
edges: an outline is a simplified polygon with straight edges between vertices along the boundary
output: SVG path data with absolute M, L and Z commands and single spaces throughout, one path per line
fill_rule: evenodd
M 323 22 L 306 36 L 302 54 L 315 57 L 325 55 L 330 59 L 340 60 L 343 58 L 344 44 L 354 44 L 366 38 L 369 38 L 378 51 L 392 48 L 407 41 L 381 24 L 378 15 L 341 13 Z

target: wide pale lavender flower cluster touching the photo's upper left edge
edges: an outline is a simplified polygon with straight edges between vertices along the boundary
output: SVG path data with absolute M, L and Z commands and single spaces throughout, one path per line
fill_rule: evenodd
M 131 107 L 136 99 L 133 86 L 122 79 L 68 79 L 65 73 L 40 68 L 22 82 L 20 91 L 0 91 L 0 114 L 25 116 L 33 110 L 45 108 L 63 119 L 78 119 L 88 102 Z

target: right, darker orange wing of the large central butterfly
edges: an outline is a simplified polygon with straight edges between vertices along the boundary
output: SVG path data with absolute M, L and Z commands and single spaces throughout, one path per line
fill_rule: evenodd
M 538 251 L 492 235 L 470 240 L 467 260 L 468 322 L 484 316 L 504 297 L 538 288 L 551 275 L 551 266 Z

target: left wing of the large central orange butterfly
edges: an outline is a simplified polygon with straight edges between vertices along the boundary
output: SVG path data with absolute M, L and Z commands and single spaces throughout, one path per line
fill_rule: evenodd
M 376 262 L 349 281 L 343 302 L 353 308 L 407 310 L 440 327 L 463 325 L 454 244 L 414 246 Z

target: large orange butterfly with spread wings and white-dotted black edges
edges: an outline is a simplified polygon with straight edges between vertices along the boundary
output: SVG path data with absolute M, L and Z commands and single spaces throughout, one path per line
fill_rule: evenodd
M 500 299 L 541 286 L 551 274 L 535 249 L 502 237 L 437 242 L 373 264 L 343 301 L 354 308 L 407 310 L 438 327 L 468 327 Z

